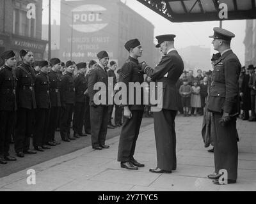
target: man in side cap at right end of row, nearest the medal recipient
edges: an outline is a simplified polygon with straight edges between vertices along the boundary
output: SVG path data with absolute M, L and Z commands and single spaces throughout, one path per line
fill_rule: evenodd
M 92 133 L 92 148 L 101 150 L 109 148 L 105 145 L 106 135 L 108 132 L 108 73 L 106 66 L 108 65 L 109 57 L 106 51 L 100 51 L 97 54 L 99 58 L 99 64 L 90 71 L 88 81 L 88 93 L 90 96 L 90 117 L 91 117 L 91 133 Z M 93 89 L 93 86 L 101 82 L 106 86 L 105 95 L 95 96 L 97 90 Z M 101 100 L 106 99 L 105 104 L 97 104 L 93 98 L 99 98 Z

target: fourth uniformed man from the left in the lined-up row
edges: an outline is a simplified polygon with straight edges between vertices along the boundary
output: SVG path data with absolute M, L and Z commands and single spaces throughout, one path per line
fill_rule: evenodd
M 60 142 L 55 140 L 55 130 L 59 126 L 60 118 L 60 87 L 61 87 L 61 77 L 58 72 L 61 68 L 61 61 L 58 58 L 50 59 L 51 71 L 48 73 L 50 90 L 49 96 L 51 101 L 51 112 L 49 119 L 49 128 L 47 133 L 47 145 L 56 146 L 60 145 Z M 62 75 L 62 73 L 61 73 Z

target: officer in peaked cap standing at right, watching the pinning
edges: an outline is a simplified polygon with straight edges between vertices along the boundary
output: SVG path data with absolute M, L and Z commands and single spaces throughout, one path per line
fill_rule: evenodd
M 212 44 L 221 57 L 214 65 L 212 84 L 207 109 L 214 119 L 214 164 L 215 172 L 208 175 L 214 184 L 220 184 L 220 170 L 227 170 L 226 184 L 236 183 L 237 179 L 237 130 L 239 115 L 239 75 L 241 64 L 230 49 L 234 33 L 214 27 Z

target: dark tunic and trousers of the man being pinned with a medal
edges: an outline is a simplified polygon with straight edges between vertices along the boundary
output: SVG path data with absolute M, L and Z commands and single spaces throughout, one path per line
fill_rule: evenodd
M 118 158 L 117 161 L 126 162 L 134 159 L 134 151 L 136 147 L 136 141 L 140 133 L 141 120 L 144 112 L 143 105 L 143 89 L 141 89 L 141 105 L 136 105 L 136 91 L 134 91 L 134 101 L 129 103 L 129 98 L 131 98 L 129 90 L 129 82 L 139 82 L 140 84 L 144 82 L 143 71 L 139 67 L 139 62 L 137 59 L 129 57 L 125 64 L 120 69 L 119 82 L 123 82 L 127 87 L 127 101 L 123 106 L 128 105 L 129 110 L 131 110 L 132 117 L 127 119 L 124 117 L 124 125 L 122 126 L 122 131 L 118 146 Z

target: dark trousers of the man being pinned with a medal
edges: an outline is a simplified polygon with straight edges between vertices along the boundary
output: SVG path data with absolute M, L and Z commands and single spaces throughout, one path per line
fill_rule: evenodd
M 136 141 L 140 133 L 141 120 L 144 110 L 131 110 L 132 118 L 124 117 L 124 124 L 118 146 L 117 161 L 126 162 L 134 159 Z

